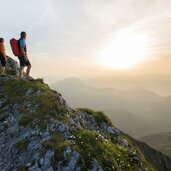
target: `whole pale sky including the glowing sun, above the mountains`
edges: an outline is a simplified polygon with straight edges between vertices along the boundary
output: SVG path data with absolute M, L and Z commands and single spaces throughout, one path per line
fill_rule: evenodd
M 49 81 L 171 58 L 171 0 L 1 0 L 0 8 L 7 53 L 26 31 L 32 74 Z

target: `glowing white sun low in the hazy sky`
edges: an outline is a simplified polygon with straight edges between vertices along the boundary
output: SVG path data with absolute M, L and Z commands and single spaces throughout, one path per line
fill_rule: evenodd
M 100 52 L 100 63 L 114 69 L 129 69 L 148 58 L 149 37 L 122 30 L 112 35 Z

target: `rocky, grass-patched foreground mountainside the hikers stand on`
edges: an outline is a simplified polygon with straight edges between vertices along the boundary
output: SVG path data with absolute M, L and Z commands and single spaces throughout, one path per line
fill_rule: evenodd
M 10 75 L 0 78 L 0 170 L 170 170 L 170 158 L 143 149 L 103 112 L 72 109 L 42 80 L 19 80 L 8 60 Z

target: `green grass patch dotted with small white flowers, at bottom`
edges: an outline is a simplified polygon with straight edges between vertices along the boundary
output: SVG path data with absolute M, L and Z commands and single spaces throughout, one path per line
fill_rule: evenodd
M 91 168 L 91 161 L 95 158 L 104 171 L 110 170 L 141 170 L 141 162 L 133 162 L 135 151 L 127 150 L 113 144 L 110 139 L 90 130 L 75 132 L 76 150 L 81 154 L 79 162 L 81 170 Z

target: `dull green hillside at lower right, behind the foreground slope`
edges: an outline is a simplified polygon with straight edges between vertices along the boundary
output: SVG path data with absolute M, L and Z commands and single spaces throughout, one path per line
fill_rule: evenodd
M 141 141 L 171 158 L 171 132 L 147 135 Z

